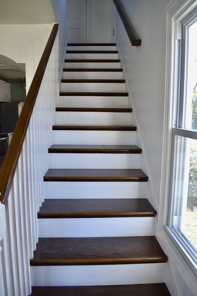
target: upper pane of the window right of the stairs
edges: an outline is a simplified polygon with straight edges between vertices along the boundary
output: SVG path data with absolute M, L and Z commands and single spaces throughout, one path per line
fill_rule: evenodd
M 185 128 L 197 130 L 197 21 L 188 29 Z

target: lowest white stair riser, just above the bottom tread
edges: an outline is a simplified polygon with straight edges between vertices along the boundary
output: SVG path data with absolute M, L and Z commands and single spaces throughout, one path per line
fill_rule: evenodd
M 163 282 L 167 263 L 31 266 L 32 286 L 129 285 Z

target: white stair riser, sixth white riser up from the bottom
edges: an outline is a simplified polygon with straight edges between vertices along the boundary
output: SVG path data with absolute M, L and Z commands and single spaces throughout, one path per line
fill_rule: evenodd
M 56 124 L 131 125 L 131 113 L 57 111 Z

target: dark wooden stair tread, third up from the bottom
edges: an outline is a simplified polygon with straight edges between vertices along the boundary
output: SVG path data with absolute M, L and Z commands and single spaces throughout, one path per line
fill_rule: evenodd
M 38 218 L 155 217 L 157 212 L 143 199 L 45 199 Z

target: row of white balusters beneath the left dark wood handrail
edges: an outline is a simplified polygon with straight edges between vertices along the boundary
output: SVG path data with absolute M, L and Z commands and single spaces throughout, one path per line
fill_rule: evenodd
M 43 175 L 48 170 L 48 148 L 58 97 L 57 36 L 27 129 L 6 211 L 0 203 L 0 296 L 31 294 L 29 259 L 38 241 L 37 212 L 44 197 Z

